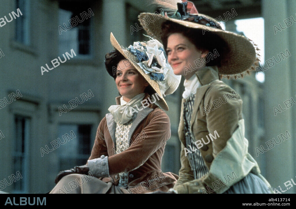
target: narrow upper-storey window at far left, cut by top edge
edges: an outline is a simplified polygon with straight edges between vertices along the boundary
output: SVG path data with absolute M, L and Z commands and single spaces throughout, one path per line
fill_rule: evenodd
M 16 0 L 16 9 L 20 8 L 22 15 L 15 19 L 15 40 L 25 45 L 30 45 L 30 0 Z

